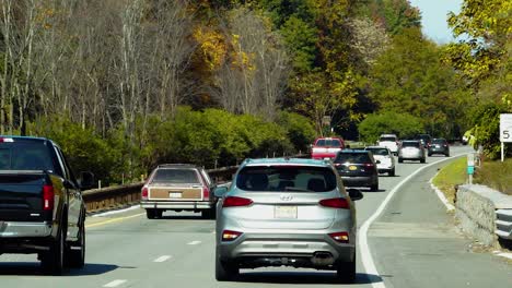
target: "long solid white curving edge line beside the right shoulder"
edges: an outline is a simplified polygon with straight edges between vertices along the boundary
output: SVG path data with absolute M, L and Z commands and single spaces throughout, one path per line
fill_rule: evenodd
M 428 164 L 421 168 L 419 168 L 418 170 L 416 170 L 415 172 L 412 172 L 411 175 L 409 175 L 408 177 L 406 177 L 404 180 L 402 180 L 397 185 L 395 185 L 395 188 L 393 188 L 392 191 L 389 191 L 389 194 L 387 194 L 386 199 L 382 202 L 381 206 L 379 206 L 379 208 L 375 211 L 375 213 L 361 226 L 360 230 L 359 230 L 359 250 L 360 250 L 360 253 L 361 253 L 361 259 L 362 259 L 362 264 L 364 266 L 364 271 L 366 272 L 366 274 L 370 274 L 370 275 L 375 275 L 375 276 L 380 276 L 379 275 L 379 272 L 376 269 L 376 266 L 375 266 L 375 262 L 373 262 L 373 257 L 372 257 L 372 253 L 370 251 L 370 247 L 368 244 L 368 229 L 370 228 L 370 226 L 373 224 L 373 221 L 379 218 L 379 216 L 381 216 L 382 212 L 385 209 L 385 207 L 387 206 L 387 203 L 389 203 L 389 201 L 392 200 L 393 195 L 395 195 L 395 193 L 407 182 L 409 181 L 412 177 L 417 176 L 419 172 L 423 171 L 424 169 L 435 165 L 435 164 L 439 164 L 439 163 L 442 163 L 442 161 L 447 161 L 447 160 L 452 160 L 453 158 L 456 158 L 458 156 L 462 156 L 462 155 L 466 155 L 467 153 L 462 153 L 462 154 L 458 154 L 454 157 L 450 157 L 450 158 L 444 158 L 444 159 L 441 159 L 439 161 L 434 161 L 434 163 L 431 163 L 431 164 Z M 380 281 L 380 283 L 372 283 L 372 287 L 373 288 L 385 288 L 386 286 L 384 285 L 384 280 Z

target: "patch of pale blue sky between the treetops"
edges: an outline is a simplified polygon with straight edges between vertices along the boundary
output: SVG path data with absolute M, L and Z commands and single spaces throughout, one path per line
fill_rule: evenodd
M 458 13 L 463 0 L 409 0 L 411 5 L 421 11 L 423 34 L 438 44 L 454 41 L 447 26 L 447 13 Z

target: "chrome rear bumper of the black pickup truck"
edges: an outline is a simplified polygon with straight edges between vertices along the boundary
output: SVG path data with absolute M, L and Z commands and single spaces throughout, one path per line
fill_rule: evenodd
M 0 221 L 0 238 L 38 238 L 51 236 L 51 225 L 27 221 Z

